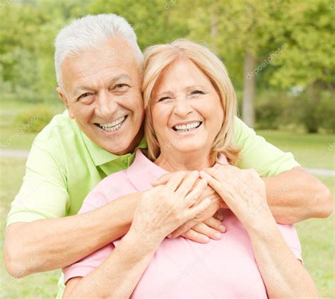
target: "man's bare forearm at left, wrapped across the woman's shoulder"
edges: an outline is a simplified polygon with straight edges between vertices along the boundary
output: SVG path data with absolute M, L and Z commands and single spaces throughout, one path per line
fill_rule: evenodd
M 8 273 L 24 277 L 59 269 L 116 240 L 129 230 L 140 197 L 129 194 L 75 216 L 12 223 L 4 244 Z

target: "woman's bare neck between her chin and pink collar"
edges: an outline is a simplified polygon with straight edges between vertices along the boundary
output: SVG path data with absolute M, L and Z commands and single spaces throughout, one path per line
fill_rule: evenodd
M 215 160 L 204 153 L 172 153 L 172 151 L 161 152 L 155 160 L 155 164 L 169 172 L 204 170 L 212 167 Z

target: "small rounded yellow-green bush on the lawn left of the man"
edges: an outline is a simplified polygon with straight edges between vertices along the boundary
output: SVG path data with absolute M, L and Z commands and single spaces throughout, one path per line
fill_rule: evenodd
M 54 112 L 48 106 L 37 106 L 31 110 L 21 112 L 16 118 L 16 124 L 26 132 L 39 132 L 54 117 Z

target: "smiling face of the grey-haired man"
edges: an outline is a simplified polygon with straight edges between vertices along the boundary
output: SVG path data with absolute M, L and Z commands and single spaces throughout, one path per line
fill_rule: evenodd
M 123 155 L 141 141 L 142 75 L 131 48 L 115 37 L 97 51 L 66 57 L 57 92 L 71 118 L 93 142 Z

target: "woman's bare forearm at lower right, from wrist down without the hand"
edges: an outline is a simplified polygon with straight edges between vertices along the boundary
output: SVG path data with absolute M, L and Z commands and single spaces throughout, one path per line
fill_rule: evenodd
M 271 213 L 246 227 L 269 298 L 318 298 L 312 278 L 288 248 Z

